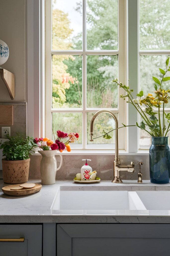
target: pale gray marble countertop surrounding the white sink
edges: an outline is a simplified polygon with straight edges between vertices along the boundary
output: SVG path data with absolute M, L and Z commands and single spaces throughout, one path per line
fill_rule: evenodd
M 41 183 L 40 180 L 29 180 L 33 183 Z M 8 196 L 3 194 L 2 187 L 7 186 L 0 180 L 0 223 L 170 223 L 170 211 L 150 211 L 149 214 L 133 215 L 52 215 L 51 205 L 59 186 L 70 186 L 76 190 L 152 190 L 170 191 L 170 184 L 152 184 L 144 180 L 138 184 L 136 180 L 124 180 L 122 184 L 113 184 L 110 180 L 102 180 L 100 183 L 80 184 L 70 180 L 59 181 L 53 185 L 42 185 L 42 189 L 36 194 L 28 196 Z M 70 188 L 69 188 L 70 189 Z M 69 190 L 68 189 L 68 190 Z

